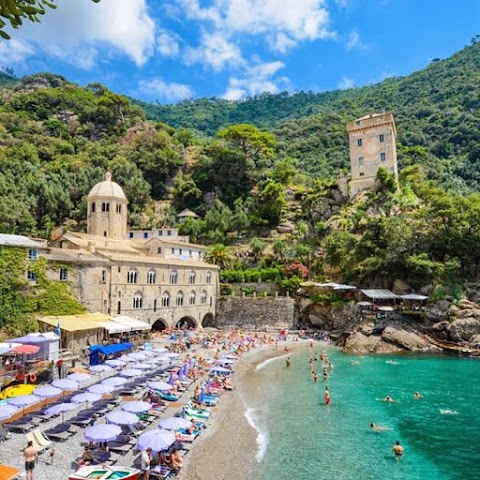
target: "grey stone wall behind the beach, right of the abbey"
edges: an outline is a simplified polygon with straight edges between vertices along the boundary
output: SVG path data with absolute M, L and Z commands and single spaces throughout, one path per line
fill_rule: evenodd
M 224 297 L 217 301 L 216 325 L 292 328 L 295 300 L 289 297 Z

